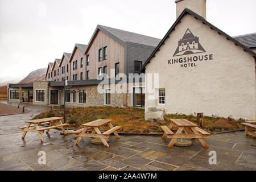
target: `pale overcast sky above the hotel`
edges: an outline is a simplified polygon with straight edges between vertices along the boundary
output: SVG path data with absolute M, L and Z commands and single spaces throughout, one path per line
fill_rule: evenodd
M 249 34 L 255 7 L 255 0 L 207 0 L 207 20 L 230 36 Z M 0 0 L 0 81 L 87 44 L 97 24 L 162 39 L 175 19 L 175 0 Z

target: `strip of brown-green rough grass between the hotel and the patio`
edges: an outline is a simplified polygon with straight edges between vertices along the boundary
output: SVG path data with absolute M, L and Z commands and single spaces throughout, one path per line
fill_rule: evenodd
M 48 110 L 33 119 L 61 117 L 63 110 Z M 66 122 L 73 128 L 80 128 L 82 124 L 96 119 L 112 119 L 114 126 L 122 126 L 120 131 L 127 133 L 162 133 L 160 125 L 169 125 L 170 118 L 184 118 L 191 122 L 197 121 L 196 115 L 185 114 L 166 114 L 164 121 L 150 122 L 144 121 L 144 109 L 135 107 L 68 107 L 66 109 Z M 240 124 L 243 119 L 235 120 L 232 118 L 204 117 L 204 129 L 210 132 L 236 130 L 243 128 Z

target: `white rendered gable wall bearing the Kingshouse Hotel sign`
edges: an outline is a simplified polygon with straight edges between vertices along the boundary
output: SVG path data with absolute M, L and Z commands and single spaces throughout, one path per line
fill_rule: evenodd
M 173 56 L 187 28 L 199 37 L 206 52 Z M 196 67 L 181 68 L 184 63 L 168 64 L 167 61 L 210 54 L 213 60 L 193 61 Z M 146 74 L 159 73 L 159 88 L 166 89 L 166 104 L 158 106 L 158 100 L 151 100 L 146 93 L 146 111 L 148 107 L 158 106 L 167 113 L 203 112 L 204 115 L 255 119 L 253 56 L 193 16 L 183 16 L 150 62 Z

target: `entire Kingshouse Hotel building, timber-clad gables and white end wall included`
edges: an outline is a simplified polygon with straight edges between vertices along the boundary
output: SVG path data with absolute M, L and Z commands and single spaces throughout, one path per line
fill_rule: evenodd
M 7 100 L 255 119 L 256 33 L 225 34 L 206 20 L 206 0 L 175 3 L 162 40 L 98 25 L 87 45 L 48 64 L 45 81 L 8 84 Z

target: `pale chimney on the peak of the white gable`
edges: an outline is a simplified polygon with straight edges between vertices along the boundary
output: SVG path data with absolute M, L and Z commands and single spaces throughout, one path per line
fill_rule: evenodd
M 187 8 L 206 19 L 206 0 L 175 0 L 177 18 Z

